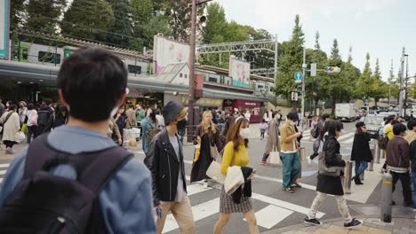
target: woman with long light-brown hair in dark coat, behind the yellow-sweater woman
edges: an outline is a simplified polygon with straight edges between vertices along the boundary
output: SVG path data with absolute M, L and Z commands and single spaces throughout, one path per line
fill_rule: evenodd
M 198 143 L 198 141 L 200 142 Z M 204 180 L 204 188 L 207 188 L 208 179 L 211 178 L 206 175 L 206 171 L 212 163 L 212 156 L 216 156 L 212 155 L 210 145 L 212 147 L 216 146 L 218 152 L 222 151 L 220 132 L 215 128 L 215 124 L 212 122 L 212 113 L 210 111 L 203 113 L 203 121 L 196 129 L 194 144 L 199 147 L 199 150 L 196 149 L 190 182 L 193 183 Z

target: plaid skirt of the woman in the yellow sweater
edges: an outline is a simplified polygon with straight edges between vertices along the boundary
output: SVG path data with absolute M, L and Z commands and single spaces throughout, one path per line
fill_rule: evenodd
M 228 196 L 225 192 L 224 186 L 222 186 L 220 195 L 220 213 L 245 213 L 252 210 L 252 198 L 241 198 L 240 204 L 236 204 L 231 196 Z

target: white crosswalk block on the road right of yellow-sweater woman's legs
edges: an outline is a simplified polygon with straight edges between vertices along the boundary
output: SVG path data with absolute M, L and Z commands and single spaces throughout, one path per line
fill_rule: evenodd
M 292 210 L 270 205 L 256 212 L 257 224 L 269 230 L 291 214 L 293 214 Z

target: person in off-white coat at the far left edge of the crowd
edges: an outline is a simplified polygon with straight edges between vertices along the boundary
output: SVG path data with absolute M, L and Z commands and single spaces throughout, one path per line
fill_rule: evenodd
M 4 113 L 0 118 L 0 122 L 3 126 L 3 143 L 6 145 L 5 152 L 12 154 L 12 147 L 16 142 L 16 134 L 20 131 L 20 117 L 19 113 L 16 113 L 17 106 L 10 105 L 9 111 Z

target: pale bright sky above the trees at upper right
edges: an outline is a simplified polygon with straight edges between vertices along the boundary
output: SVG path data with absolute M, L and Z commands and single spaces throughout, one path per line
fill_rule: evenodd
M 398 74 L 403 47 L 408 54 L 409 76 L 416 74 L 416 1 L 414 0 L 214 0 L 225 9 L 228 20 L 267 29 L 278 41 L 290 40 L 295 15 L 305 33 L 306 46 L 315 45 L 319 31 L 321 49 L 331 53 L 333 39 L 343 60 L 352 46 L 353 64 L 364 69 L 370 53 L 372 71 L 380 59 L 387 80 L 393 59 Z M 319 67 L 318 68 L 322 68 Z

